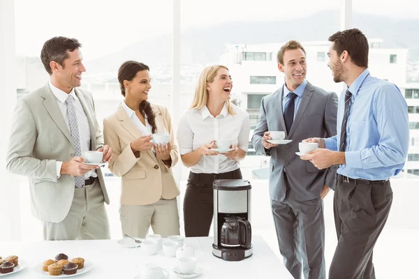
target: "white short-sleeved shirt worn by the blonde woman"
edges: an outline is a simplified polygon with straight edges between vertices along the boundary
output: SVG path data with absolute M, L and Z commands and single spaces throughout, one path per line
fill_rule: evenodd
M 247 151 L 249 147 L 249 114 L 240 107 L 231 105 L 234 115 L 229 114 L 224 104 L 221 114 L 210 114 L 205 105 L 200 110 L 188 110 L 180 117 L 177 142 L 181 155 L 195 151 L 212 140 L 230 140 L 231 144 Z M 222 154 L 203 156 L 198 164 L 191 167 L 196 174 L 220 174 L 240 167 L 239 163 Z

